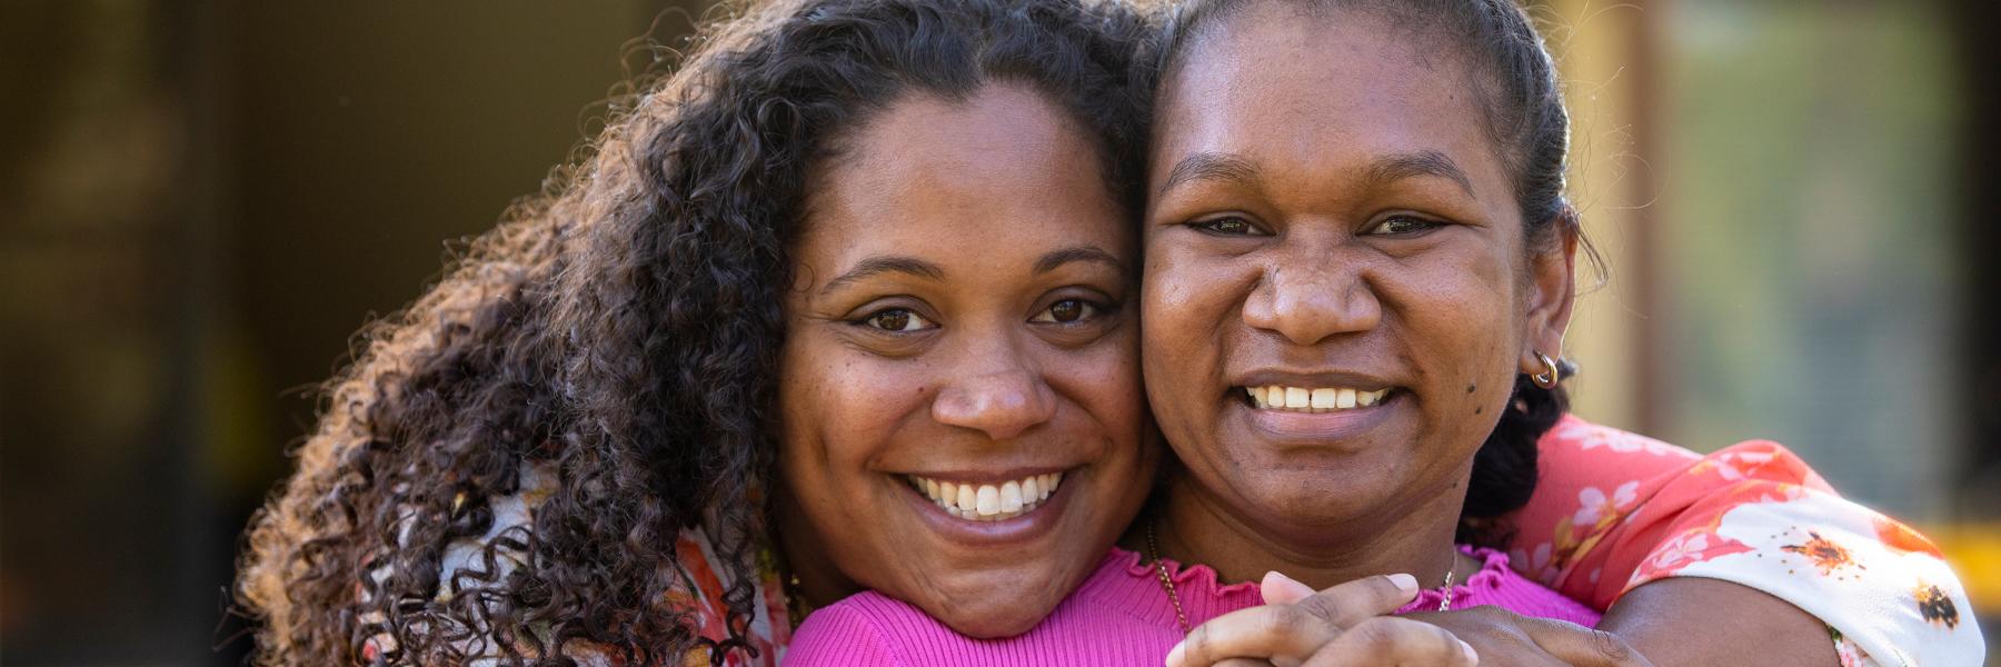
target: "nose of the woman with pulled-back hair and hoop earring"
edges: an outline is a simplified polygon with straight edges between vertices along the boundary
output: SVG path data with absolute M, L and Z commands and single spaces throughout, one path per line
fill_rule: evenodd
M 1295 254 L 1265 270 L 1245 300 L 1243 318 L 1295 345 L 1317 345 L 1375 328 L 1383 320 L 1383 302 L 1359 264 L 1343 262 L 1339 252 Z

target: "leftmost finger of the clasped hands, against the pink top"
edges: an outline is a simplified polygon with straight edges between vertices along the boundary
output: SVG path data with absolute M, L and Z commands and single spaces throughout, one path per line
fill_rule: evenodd
M 1301 661 L 1339 633 L 1341 627 L 1297 605 L 1239 609 L 1197 625 L 1167 653 L 1167 665 L 1213 665 L 1233 657 Z

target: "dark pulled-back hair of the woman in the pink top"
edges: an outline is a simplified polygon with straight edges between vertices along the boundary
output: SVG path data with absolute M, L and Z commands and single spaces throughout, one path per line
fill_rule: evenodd
M 1197 0 L 1179 6 L 1167 20 L 1157 52 L 1159 80 L 1181 66 L 1181 58 L 1207 30 L 1215 30 L 1243 6 L 1261 0 Z M 1487 120 L 1487 136 L 1499 148 L 1513 176 L 1527 248 L 1547 252 L 1575 238 L 1597 264 L 1597 252 L 1583 236 L 1577 210 L 1565 196 L 1565 168 L 1571 150 L 1571 116 L 1563 106 L 1557 66 L 1535 22 L 1515 0 L 1263 0 L 1285 2 L 1309 12 L 1355 10 L 1381 16 L 1399 30 L 1453 46 L 1473 74 L 1475 98 Z M 1551 351 L 1555 353 L 1555 351 Z M 1559 363 L 1561 377 L 1575 367 Z M 1529 375 L 1515 377 L 1509 409 L 1473 457 L 1473 481 L 1461 511 L 1459 541 L 1499 545 L 1509 531 L 1493 519 L 1529 503 L 1537 479 L 1537 439 L 1569 413 L 1563 387 L 1541 389 Z

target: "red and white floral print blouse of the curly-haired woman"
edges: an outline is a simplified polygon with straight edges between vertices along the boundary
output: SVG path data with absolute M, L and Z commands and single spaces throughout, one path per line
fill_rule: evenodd
M 1749 441 L 1697 455 L 1655 439 L 1565 417 L 1541 449 L 1541 479 L 1529 505 L 1507 517 L 1509 563 L 1523 575 L 1597 611 L 1663 577 L 1735 581 L 1819 617 L 1843 665 L 1981 665 L 1985 641 L 1973 607 L 1939 549 L 1903 523 L 1841 499 L 1813 469 L 1777 443 Z M 552 483 L 554 475 L 524 481 Z M 524 525 L 524 483 L 504 499 L 500 523 Z M 468 545 L 470 547 L 470 545 Z M 700 633 L 724 637 L 726 571 L 708 539 L 680 537 L 680 567 L 694 581 L 688 605 Z M 448 559 L 450 561 L 450 559 Z M 758 609 L 748 627 L 756 657 L 726 665 L 778 665 L 790 643 L 780 575 L 762 559 Z M 450 569 L 452 563 L 446 563 Z M 440 577 L 450 579 L 450 577 Z M 580 665 L 616 665 L 614 651 L 570 643 Z M 706 651 L 686 665 L 706 665 Z

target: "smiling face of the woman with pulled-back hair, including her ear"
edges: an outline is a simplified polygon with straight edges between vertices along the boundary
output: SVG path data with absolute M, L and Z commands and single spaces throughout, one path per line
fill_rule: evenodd
M 1279 2 L 1187 48 L 1143 284 L 1177 493 L 1299 545 L 1413 519 L 1451 535 L 1473 453 L 1571 302 L 1565 244 L 1529 252 L 1473 74 L 1445 40 Z

